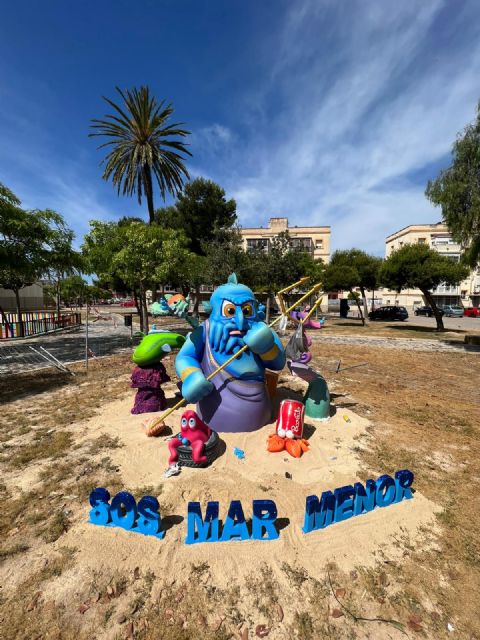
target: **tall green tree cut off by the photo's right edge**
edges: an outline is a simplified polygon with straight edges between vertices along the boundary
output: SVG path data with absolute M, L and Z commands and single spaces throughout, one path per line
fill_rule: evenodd
M 428 182 L 425 194 L 441 207 L 454 239 L 468 247 L 464 260 L 474 267 L 480 260 L 480 103 L 476 120 L 453 145 L 451 166 Z

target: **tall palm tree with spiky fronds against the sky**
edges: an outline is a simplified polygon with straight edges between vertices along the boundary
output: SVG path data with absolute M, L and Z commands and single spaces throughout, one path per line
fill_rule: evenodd
M 178 128 L 183 123 L 167 125 L 173 107 L 165 106 L 164 101 L 158 103 L 154 96 L 150 96 L 148 87 L 131 91 L 116 89 L 123 105 L 104 97 L 115 113 L 106 115 L 104 120 L 93 119 L 91 128 L 95 131 L 89 137 L 110 138 L 98 147 L 111 147 L 102 161 L 105 165 L 102 177 L 104 180 L 111 178 L 118 193 L 121 191 L 123 195 L 131 196 L 136 192 L 139 204 L 145 195 L 152 223 L 152 176 L 157 180 L 163 200 L 167 192 L 176 196 L 181 191 L 184 177 L 189 178 L 181 154 L 192 154 L 184 142 L 174 137 L 184 138 L 190 131 Z

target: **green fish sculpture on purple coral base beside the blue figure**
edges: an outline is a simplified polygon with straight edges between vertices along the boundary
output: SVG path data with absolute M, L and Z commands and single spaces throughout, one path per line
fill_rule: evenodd
M 151 333 L 142 339 L 132 355 L 137 365 L 132 371 L 131 387 L 138 389 L 132 413 L 149 413 L 163 411 L 166 407 L 165 393 L 161 388 L 170 376 L 161 360 L 179 349 L 185 342 L 184 336 L 178 333 Z

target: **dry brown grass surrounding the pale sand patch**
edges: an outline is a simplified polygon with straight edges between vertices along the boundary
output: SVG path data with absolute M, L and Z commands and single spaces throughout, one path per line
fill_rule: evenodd
M 443 507 L 437 549 L 415 547 L 400 530 L 400 561 L 383 558 L 375 569 L 350 573 L 330 566 L 322 579 L 284 563 L 288 591 L 268 565 L 244 582 L 232 577 L 228 589 L 212 582 L 205 562 L 192 565 L 186 584 L 112 567 L 84 575 L 73 600 L 54 603 L 45 595 L 49 583 L 61 581 L 77 560 L 71 549 L 55 551 L 53 541 L 61 543 L 93 486 L 112 492 L 122 486 L 107 455 L 120 446 L 116 439 L 75 441 L 79 419 L 127 389 L 128 359 L 111 358 L 95 362 L 88 377 L 80 370 L 68 379 L 52 372 L 42 380 L 9 380 L 0 391 L 0 561 L 39 553 L 45 559 L 15 593 L 4 586 L 2 638 L 84 640 L 113 626 L 122 640 L 227 640 L 255 637 L 259 621 L 271 629 L 269 638 L 283 624 L 285 637 L 306 640 L 384 638 L 399 629 L 437 640 L 451 637 L 449 622 L 456 637 L 478 637 L 478 357 L 328 344 L 314 349 L 320 360 L 341 358 L 345 366 L 368 361 L 368 367 L 343 374 L 326 372 L 336 406 L 349 406 L 373 423 L 371 448 L 361 451 L 362 479 L 410 468 L 415 487 Z M 10 477 L 32 468 L 35 484 L 25 492 L 15 489 Z M 159 495 L 161 487 L 137 492 Z M 283 609 L 291 614 L 286 627 Z

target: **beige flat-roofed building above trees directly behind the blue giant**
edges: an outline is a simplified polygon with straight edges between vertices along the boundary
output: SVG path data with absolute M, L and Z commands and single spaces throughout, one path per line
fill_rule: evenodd
M 273 238 L 283 231 L 288 231 L 293 250 L 308 251 L 315 260 L 321 258 L 325 263 L 330 260 L 330 227 L 289 227 L 288 218 L 270 218 L 267 227 L 243 227 L 243 248 L 268 253 Z

